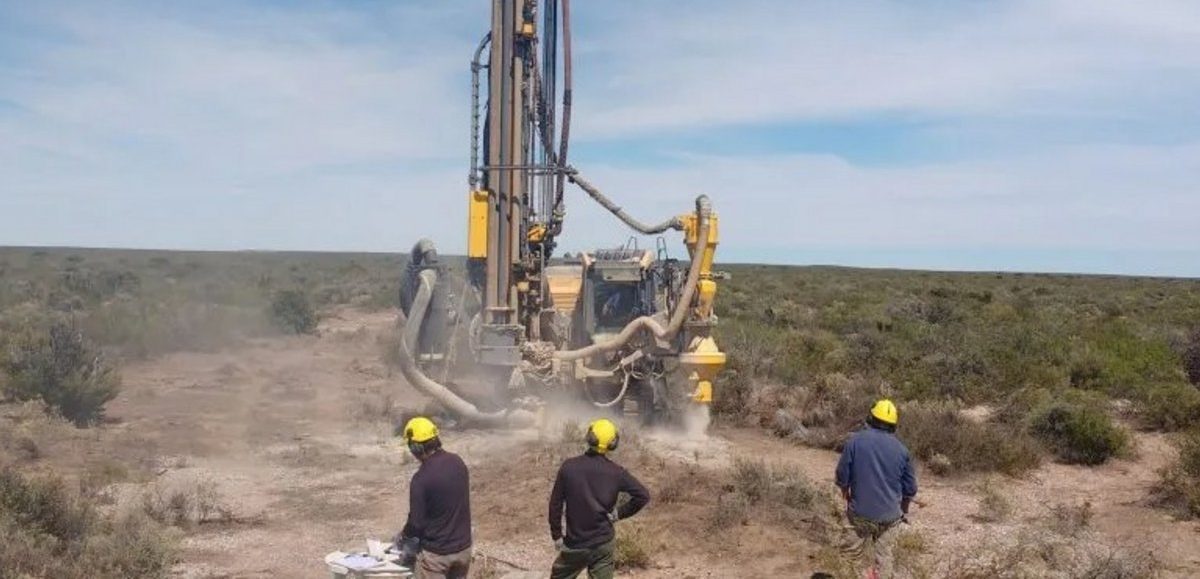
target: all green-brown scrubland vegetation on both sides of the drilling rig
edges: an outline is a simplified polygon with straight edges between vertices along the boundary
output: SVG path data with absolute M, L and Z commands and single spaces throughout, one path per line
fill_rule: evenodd
M 77 428 L 102 425 L 124 363 L 313 333 L 336 306 L 392 308 L 402 264 L 385 255 L 0 250 L 0 402 L 46 408 Z M 718 424 L 838 449 L 887 395 L 900 404 L 899 434 L 923 472 L 997 479 L 1046 460 L 1134 456 L 1132 430 L 1165 431 L 1178 458 L 1150 499 L 1200 517 L 1200 281 L 728 269 L 718 309 L 730 353 Z M 380 416 L 392 406 L 389 399 Z M 232 517 L 204 485 L 151 489 L 134 508 L 115 508 L 94 489 L 122 477 L 38 472 L 31 466 L 42 441 L 2 432 L 0 577 L 162 577 L 178 529 Z M 691 523 L 704 532 L 737 532 L 750 520 L 811 537 L 834 532 L 828 489 L 794 470 L 740 460 L 714 473 L 630 454 L 654 472 L 659 505 L 708 506 Z M 1010 515 L 998 484 L 980 490 L 977 520 Z M 990 545 L 962 568 L 1010 577 L 1006 569 L 1033 565 L 1031 554 L 1060 556 L 1088 517 L 1064 507 L 1044 529 Z M 622 567 L 653 566 L 668 536 L 653 524 L 626 526 Z M 916 561 L 925 549 L 919 533 L 906 532 L 901 553 Z M 912 565 L 914 574 L 936 571 Z M 1037 565 L 1100 573 L 1086 577 L 1153 572 L 1151 560 L 1124 551 Z

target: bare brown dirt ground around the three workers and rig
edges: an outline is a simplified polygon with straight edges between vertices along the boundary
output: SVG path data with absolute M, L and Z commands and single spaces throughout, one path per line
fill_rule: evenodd
M 319 336 L 126 365 L 125 388 L 109 407 L 115 424 L 77 437 L 71 444 L 83 450 L 74 456 L 108 454 L 137 465 L 149 477 L 139 485 L 214 489 L 222 517 L 186 532 L 178 577 L 328 577 L 326 553 L 389 538 L 406 512 L 415 464 L 392 437 L 391 420 L 397 408 L 418 410 L 427 400 L 380 362 L 378 339 L 392 324 L 390 312 L 344 310 L 323 323 Z M 545 501 L 557 460 L 574 452 L 562 438 L 562 424 L 444 434 L 472 467 L 476 550 L 498 561 L 488 567 L 548 568 Z M 702 474 L 739 456 L 793 466 L 832 491 L 838 458 L 751 429 L 714 428 L 703 440 L 646 432 L 640 440 L 649 458 L 637 455 L 630 466 L 653 483 L 652 494 L 678 484 L 670 479 L 679 473 L 713 484 Z M 1056 507 L 1087 502 L 1098 541 L 1153 551 L 1169 577 L 1200 574 L 1200 527 L 1146 505 L 1170 447 L 1158 435 L 1138 434 L 1136 442 L 1134 458 L 1102 467 L 1048 464 L 1022 479 L 996 478 L 990 487 L 1012 507 L 998 521 L 977 520 L 986 478 L 922 477 L 924 507 L 912 513 L 911 530 L 926 539 L 923 557 L 936 568 L 953 554 L 1043 525 Z M 53 452 L 47 455 L 53 460 Z M 620 450 L 616 459 L 623 460 Z M 709 533 L 701 521 L 719 491 L 704 487 L 670 505 L 652 503 L 623 523 L 653 530 L 652 565 L 631 577 L 806 577 L 818 565 L 817 545 L 786 530 L 750 524 Z

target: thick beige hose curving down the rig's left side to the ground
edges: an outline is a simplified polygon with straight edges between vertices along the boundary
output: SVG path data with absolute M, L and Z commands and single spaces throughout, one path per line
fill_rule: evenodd
M 529 412 L 516 410 L 511 412 L 482 412 L 475 405 L 463 400 L 449 388 L 433 381 L 416 365 L 410 344 L 418 344 L 421 334 L 421 323 L 430 308 L 433 297 L 433 287 L 437 285 L 438 274 L 432 269 L 420 273 L 420 286 L 413 298 L 413 305 L 408 310 L 408 321 L 400 335 L 400 371 L 413 387 L 424 392 L 430 398 L 437 400 L 456 416 L 486 425 L 510 425 L 521 426 L 534 423 L 534 416 Z

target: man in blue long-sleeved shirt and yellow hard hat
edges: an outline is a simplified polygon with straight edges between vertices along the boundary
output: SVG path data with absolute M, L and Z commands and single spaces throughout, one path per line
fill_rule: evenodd
M 899 412 L 880 400 L 841 450 L 836 482 L 846 499 L 846 515 L 858 537 L 854 550 L 868 551 L 875 577 L 893 577 L 895 526 L 917 495 L 917 474 L 908 449 L 895 436 Z

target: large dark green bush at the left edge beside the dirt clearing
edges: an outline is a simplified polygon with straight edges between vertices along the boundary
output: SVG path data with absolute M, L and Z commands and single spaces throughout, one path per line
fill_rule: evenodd
M 120 378 L 103 354 L 68 322 L 25 332 L 8 345 L 0 369 L 8 375 L 4 395 L 41 400 L 77 426 L 100 422 L 116 398 Z

